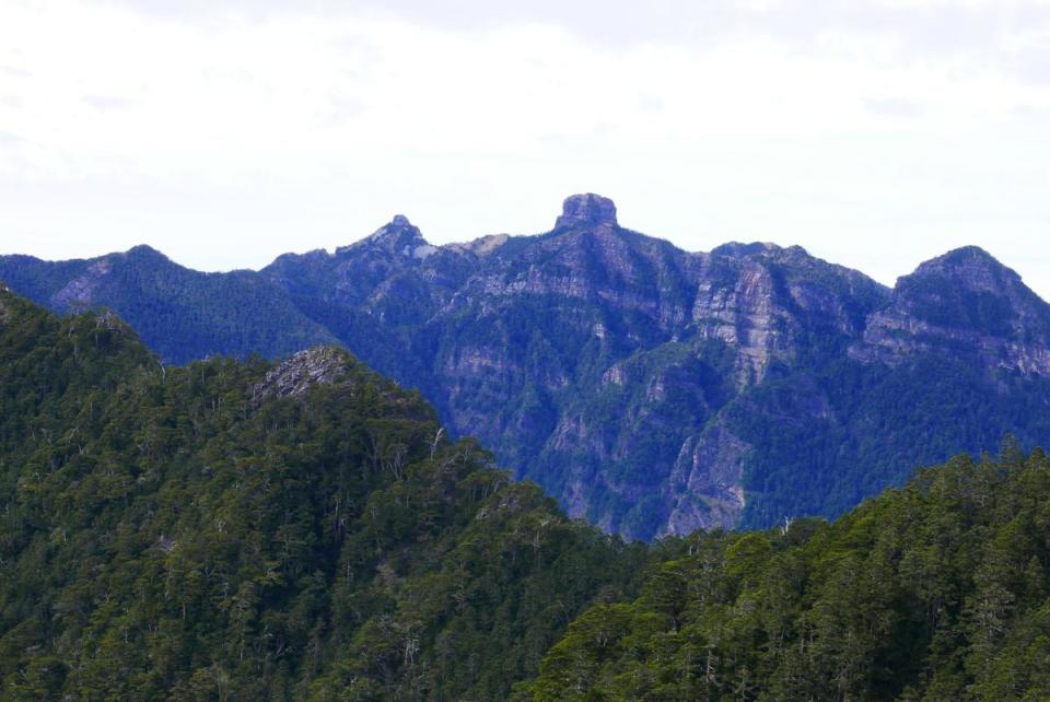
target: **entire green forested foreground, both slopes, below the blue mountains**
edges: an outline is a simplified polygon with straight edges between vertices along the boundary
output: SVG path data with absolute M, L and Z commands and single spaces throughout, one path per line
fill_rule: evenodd
M 0 698 L 1046 700 L 1050 458 L 627 545 L 345 351 L 166 367 L 0 286 Z

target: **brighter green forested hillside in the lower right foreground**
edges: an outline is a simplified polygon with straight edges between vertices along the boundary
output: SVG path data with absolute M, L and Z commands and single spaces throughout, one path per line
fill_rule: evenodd
M 1050 699 L 1050 459 L 924 470 L 833 524 L 698 533 L 523 699 Z M 527 694 L 526 694 L 527 692 Z

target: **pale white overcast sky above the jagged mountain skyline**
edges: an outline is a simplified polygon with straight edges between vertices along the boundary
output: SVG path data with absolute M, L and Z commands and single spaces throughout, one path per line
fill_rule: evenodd
M 1050 0 L 0 3 L 0 253 L 259 268 L 584 191 L 888 284 L 977 244 L 1050 299 Z

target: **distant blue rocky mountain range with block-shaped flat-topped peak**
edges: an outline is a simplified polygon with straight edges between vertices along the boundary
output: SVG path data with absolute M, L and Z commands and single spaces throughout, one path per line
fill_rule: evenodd
M 685 251 L 586 194 L 535 236 L 433 246 L 398 215 L 257 272 L 132 249 L 0 257 L 0 280 L 112 307 L 170 361 L 345 346 L 635 539 L 833 516 L 919 465 L 1050 436 L 1050 309 L 975 247 L 888 289 L 797 246 Z

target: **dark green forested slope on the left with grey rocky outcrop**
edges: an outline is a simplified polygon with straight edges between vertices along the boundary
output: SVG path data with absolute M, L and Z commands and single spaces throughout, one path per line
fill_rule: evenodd
M 163 367 L 0 291 L 3 698 L 505 698 L 645 553 L 320 347 Z

